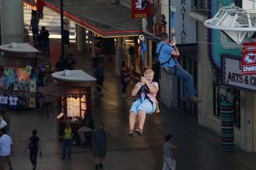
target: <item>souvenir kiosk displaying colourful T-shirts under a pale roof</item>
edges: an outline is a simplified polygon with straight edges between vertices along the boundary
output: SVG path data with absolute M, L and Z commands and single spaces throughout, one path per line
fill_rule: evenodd
M 26 43 L 11 43 L 0 46 L 2 108 L 36 108 L 39 51 Z

